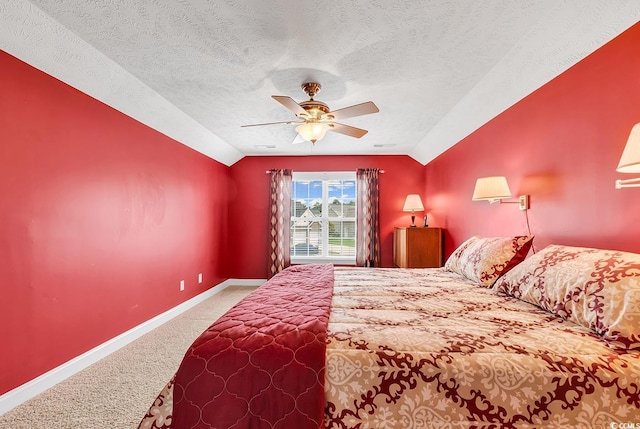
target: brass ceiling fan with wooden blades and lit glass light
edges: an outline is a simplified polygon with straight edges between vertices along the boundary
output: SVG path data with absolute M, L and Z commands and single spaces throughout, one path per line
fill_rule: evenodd
M 260 127 L 263 125 L 287 124 L 296 125 L 296 132 L 303 140 L 296 140 L 293 143 L 301 141 L 310 141 L 315 144 L 322 139 L 327 131 L 344 134 L 350 137 L 360 138 L 367 134 L 367 130 L 352 127 L 350 125 L 339 124 L 335 120 L 353 118 L 354 116 L 368 115 L 379 112 L 378 107 L 372 102 L 356 104 L 331 111 L 322 101 L 314 100 L 313 97 L 320 91 L 320 84 L 317 82 L 305 82 L 302 84 L 302 90 L 309 96 L 308 101 L 296 103 L 296 101 L 286 95 L 272 95 L 271 97 L 278 103 L 293 112 L 297 117 L 297 121 L 268 122 L 265 124 L 242 125 L 243 127 Z

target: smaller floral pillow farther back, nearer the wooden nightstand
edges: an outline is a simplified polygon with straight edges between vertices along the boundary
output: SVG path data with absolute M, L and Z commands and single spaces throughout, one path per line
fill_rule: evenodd
M 524 260 L 532 240 L 532 236 L 473 236 L 449 256 L 444 268 L 490 287 L 498 277 Z

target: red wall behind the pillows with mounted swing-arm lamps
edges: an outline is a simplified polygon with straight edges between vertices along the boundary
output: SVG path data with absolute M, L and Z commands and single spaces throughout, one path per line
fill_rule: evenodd
M 512 106 L 427 165 L 425 194 L 446 250 L 467 237 L 527 232 L 516 205 L 472 202 L 478 177 L 504 175 L 531 195 L 535 245 L 640 252 L 640 188 L 614 189 L 640 122 L 640 24 Z M 638 175 L 640 176 L 640 175 Z

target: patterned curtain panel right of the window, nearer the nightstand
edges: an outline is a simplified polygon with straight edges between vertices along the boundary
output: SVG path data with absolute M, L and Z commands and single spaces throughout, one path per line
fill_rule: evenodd
M 356 237 L 356 265 L 380 266 L 380 193 L 379 170 L 358 169 L 356 172 L 358 215 Z

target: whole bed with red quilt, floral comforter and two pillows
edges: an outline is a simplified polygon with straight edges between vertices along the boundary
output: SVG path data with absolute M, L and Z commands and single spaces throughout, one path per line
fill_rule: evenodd
M 530 246 L 290 267 L 203 332 L 139 427 L 640 426 L 640 255 Z

